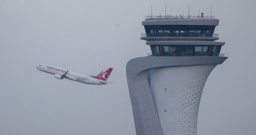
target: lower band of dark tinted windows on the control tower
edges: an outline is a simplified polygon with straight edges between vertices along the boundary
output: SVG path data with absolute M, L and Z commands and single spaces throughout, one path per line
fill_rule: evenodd
M 221 46 L 151 45 L 153 56 L 219 56 Z

